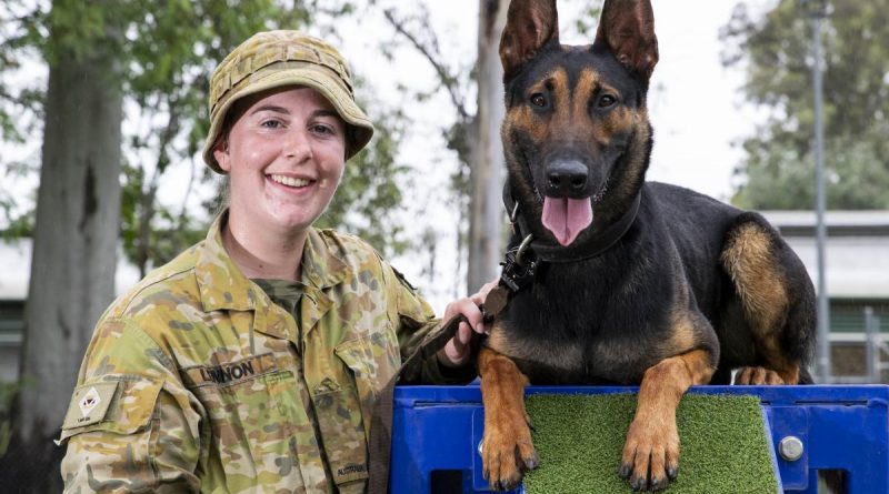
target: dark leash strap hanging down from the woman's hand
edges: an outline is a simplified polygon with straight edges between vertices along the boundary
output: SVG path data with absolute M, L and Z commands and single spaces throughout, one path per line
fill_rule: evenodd
M 404 361 L 389 382 L 377 395 L 370 420 L 370 441 L 368 443 L 368 493 L 387 494 L 389 491 L 389 460 L 392 453 L 392 397 L 400 377 L 417 380 L 422 372 L 424 360 L 433 356 L 450 341 L 466 316 L 458 315 L 447 324 L 432 330 L 420 346 Z

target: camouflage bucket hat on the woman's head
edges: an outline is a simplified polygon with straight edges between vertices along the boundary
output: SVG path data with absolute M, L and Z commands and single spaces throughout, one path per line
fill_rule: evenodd
M 226 113 L 239 99 L 273 88 L 306 85 L 323 95 L 346 121 L 346 159 L 360 151 L 373 124 L 358 107 L 349 65 L 330 44 L 299 31 L 254 34 L 236 48 L 210 79 L 210 132 L 203 161 L 222 173 L 213 158 L 213 144 L 222 132 Z

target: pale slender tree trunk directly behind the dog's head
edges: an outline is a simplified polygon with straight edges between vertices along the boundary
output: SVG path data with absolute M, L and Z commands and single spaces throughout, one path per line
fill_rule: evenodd
M 507 22 L 509 0 L 479 0 L 478 141 L 472 148 L 475 163 L 470 183 L 468 293 L 498 275 L 502 258 L 505 213 L 503 69 L 499 46 Z

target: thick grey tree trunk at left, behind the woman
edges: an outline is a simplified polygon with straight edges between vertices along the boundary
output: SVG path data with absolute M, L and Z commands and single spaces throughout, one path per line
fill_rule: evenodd
M 113 298 L 117 264 L 122 93 L 114 43 L 79 40 L 73 50 L 52 36 L 22 385 L 8 453 L 16 461 L 0 460 L 8 465 L 0 485 L 17 492 L 61 491 L 64 448 L 52 440 L 93 325 Z

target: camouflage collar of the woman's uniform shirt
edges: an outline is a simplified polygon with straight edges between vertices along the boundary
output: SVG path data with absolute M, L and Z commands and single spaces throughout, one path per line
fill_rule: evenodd
M 208 312 L 256 310 L 257 301 L 264 300 L 267 295 L 244 276 L 222 245 L 222 228 L 227 221 L 228 210 L 213 221 L 198 254 L 194 272 L 201 303 Z M 328 244 L 326 236 L 316 229 L 309 230 L 302 252 L 301 274 L 307 289 L 321 291 L 339 284 L 346 278 L 347 264 L 337 255 L 338 249 Z

